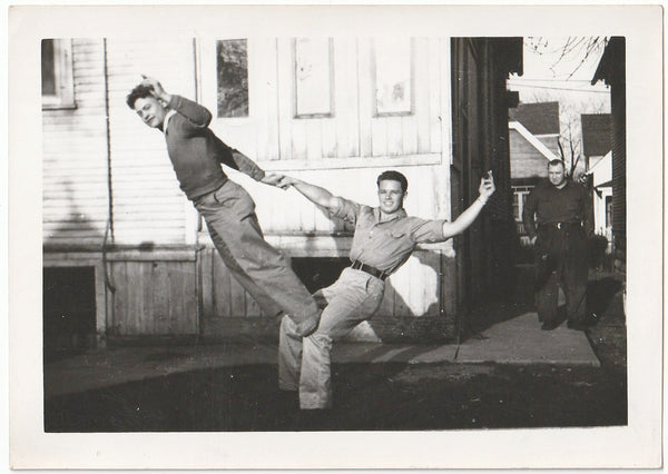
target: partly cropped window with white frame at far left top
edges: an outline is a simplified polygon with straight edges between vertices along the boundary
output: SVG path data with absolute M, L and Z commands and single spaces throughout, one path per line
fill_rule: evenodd
M 41 41 L 42 108 L 75 107 L 72 42 L 70 39 Z

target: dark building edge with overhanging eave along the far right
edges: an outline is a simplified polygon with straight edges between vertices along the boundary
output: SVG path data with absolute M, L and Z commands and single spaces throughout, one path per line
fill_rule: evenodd
M 626 39 L 611 37 L 591 79 L 610 86 L 612 116 L 612 250 L 615 269 L 626 274 Z

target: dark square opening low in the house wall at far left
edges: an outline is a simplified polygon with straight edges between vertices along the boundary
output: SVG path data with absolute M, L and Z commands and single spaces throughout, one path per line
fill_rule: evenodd
M 45 361 L 95 345 L 95 268 L 43 269 Z

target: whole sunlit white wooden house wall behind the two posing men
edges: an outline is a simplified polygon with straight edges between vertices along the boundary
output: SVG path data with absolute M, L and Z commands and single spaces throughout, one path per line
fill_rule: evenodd
M 217 39 L 106 42 L 116 244 L 196 241 L 196 215 L 178 188 L 164 136 L 146 127 L 125 98 L 147 73 L 215 113 Z M 407 210 L 448 217 L 449 41 L 413 40 L 414 112 L 376 117 L 373 40 L 334 38 L 334 115 L 328 118 L 295 118 L 294 41 L 248 40 L 249 117 L 215 118 L 214 131 L 267 170 L 301 175 L 363 203 L 375 203 L 380 171 L 401 169 L 411 181 Z M 45 240 L 97 244 L 109 194 L 105 42 L 75 40 L 72 53 L 77 108 L 43 112 Z M 303 199 L 229 174 L 249 188 L 269 234 L 342 230 Z

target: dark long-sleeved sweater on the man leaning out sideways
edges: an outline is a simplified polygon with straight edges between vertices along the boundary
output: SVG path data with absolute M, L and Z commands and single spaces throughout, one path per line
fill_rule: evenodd
M 176 113 L 169 118 L 165 140 L 180 188 L 195 200 L 218 189 L 228 179 L 220 164 L 259 181 L 265 172 L 250 159 L 225 145 L 208 128 L 212 113 L 180 96 L 171 96 L 167 106 Z

